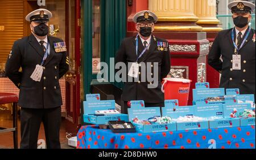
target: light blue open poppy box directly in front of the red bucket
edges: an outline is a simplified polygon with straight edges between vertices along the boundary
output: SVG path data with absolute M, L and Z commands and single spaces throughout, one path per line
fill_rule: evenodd
M 176 122 L 177 131 L 191 130 L 191 129 L 208 129 L 208 120 L 199 120 L 198 122 L 177 122 L 180 116 L 194 116 L 195 106 L 179 106 L 178 100 L 164 101 L 162 107 L 163 116 L 170 116 Z

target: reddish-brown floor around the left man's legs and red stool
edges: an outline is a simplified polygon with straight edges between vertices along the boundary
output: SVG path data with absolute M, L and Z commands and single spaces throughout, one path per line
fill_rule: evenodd
M 11 128 L 13 125 L 13 118 L 11 115 L 11 111 L 7 109 L 4 106 L 0 106 L 0 127 L 3 128 Z M 45 140 L 44 135 L 44 127 L 43 124 L 41 124 L 38 140 Z M 61 148 L 63 149 L 71 149 L 70 146 L 68 146 L 68 140 L 66 138 L 66 132 L 65 132 L 65 123 L 64 119 L 61 123 L 60 128 L 60 143 Z M 18 145 L 20 144 L 20 120 L 18 118 Z M 0 133 L 0 149 L 3 148 L 13 148 L 13 133 L 7 132 L 7 133 Z

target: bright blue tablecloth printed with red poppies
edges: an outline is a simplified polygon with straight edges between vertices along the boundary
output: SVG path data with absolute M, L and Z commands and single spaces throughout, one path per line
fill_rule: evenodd
M 255 126 L 158 133 L 113 133 L 82 126 L 78 149 L 255 149 Z

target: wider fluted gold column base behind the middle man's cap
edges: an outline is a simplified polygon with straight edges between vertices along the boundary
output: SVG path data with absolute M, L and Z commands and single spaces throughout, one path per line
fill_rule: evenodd
M 194 0 L 148 0 L 148 8 L 159 18 L 155 31 L 200 32 L 203 29 L 196 25 L 199 18 L 194 14 Z

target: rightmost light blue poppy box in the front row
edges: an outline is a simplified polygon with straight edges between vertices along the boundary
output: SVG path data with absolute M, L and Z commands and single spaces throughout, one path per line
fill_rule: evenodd
M 236 96 L 226 96 L 226 103 L 223 106 L 224 117 L 230 118 L 231 114 L 238 116 L 239 113 L 242 113 L 245 110 L 253 110 L 251 103 L 238 103 Z M 236 113 L 234 112 L 236 110 Z M 230 118 L 234 119 L 234 118 Z M 240 126 L 255 126 L 255 118 L 239 118 Z

